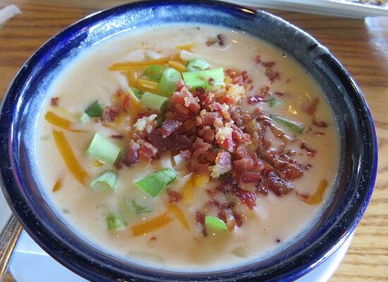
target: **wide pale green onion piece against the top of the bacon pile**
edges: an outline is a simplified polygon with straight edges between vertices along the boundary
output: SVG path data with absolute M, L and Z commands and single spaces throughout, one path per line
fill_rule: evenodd
M 198 86 L 213 88 L 224 85 L 224 68 L 212 68 L 205 71 L 192 71 L 183 73 L 185 84 L 195 89 Z

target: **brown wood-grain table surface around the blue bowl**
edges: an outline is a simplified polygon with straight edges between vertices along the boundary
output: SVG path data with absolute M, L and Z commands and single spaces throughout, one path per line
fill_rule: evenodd
M 23 12 L 0 28 L 0 100 L 31 54 L 67 25 L 120 0 L 0 0 Z M 82 4 L 81 4 L 82 3 Z M 303 28 L 358 82 L 375 120 L 379 169 L 375 191 L 350 248 L 331 281 L 388 281 L 388 18 L 350 20 L 272 11 Z M 14 281 L 7 274 L 6 282 Z

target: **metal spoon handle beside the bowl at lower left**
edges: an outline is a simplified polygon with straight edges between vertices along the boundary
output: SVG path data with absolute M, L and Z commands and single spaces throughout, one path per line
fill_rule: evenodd
M 8 219 L 3 231 L 0 234 L 0 281 L 3 281 L 6 271 L 8 269 L 9 261 L 12 257 L 13 249 L 16 247 L 18 238 L 22 231 L 16 216 L 12 215 Z

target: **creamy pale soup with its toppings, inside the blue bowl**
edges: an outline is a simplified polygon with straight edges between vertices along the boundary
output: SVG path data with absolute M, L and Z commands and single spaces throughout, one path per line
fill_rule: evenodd
M 263 259 L 331 199 L 336 123 L 281 49 L 207 25 L 112 37 L 72 59 L 37 130 L 42 182 L 69 226 L 176 271 Z

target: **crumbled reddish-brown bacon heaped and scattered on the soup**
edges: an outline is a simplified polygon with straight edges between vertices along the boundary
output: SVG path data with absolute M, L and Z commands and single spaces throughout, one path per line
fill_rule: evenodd
M 260 56 L 255 61 L 265 68 L 271 82 L 280 79 L 280 74 L 274 71 L 274 62 L 263 62 Z M 160 113 L 147 111 L 137 116 L 129 133 L 120 135 L 123 140 L 130 139 L 121 165 L 135 166 L 141 159 L 151 162 L 171 151 L 174 156 L 181 154 L 191 173 L 210 174 L 212 179 L 219 180 L 216 188 L 205 190 L 209 199 L 195 217 L 202 235 L 207 234 L 207 208 L 232 230 L 241 226 L 245 218 L 237 206 L 255 209 L 257 199 L 269 192 L 281 196 L 293 190 L 293 180 L 301 178 L 310 165 L 296 160 L 297 153 L 288 147 L 290 144 L 298 142 L 311 157 L 316 153 L 305 141 L 290 137 L 277 128 L 261 109 L 255 108 L 251 113 L 241 110 L 241 101 L 245 99 L 249 104 L 266 102 L 272 95 L 271 82 L 253 90 L 253 81 L 247 71 L 229 69 L 225 73 L 225 87 L 212 90 L 190 89 L 179 80 L 159 127 L 157 117 L 160 118 Z M 274 94 L 282 96 L 286 93 Z M 123 94 L 116 93 L 121 98 Z M 131 100 L 123 100 L 119 108 L 106 106 L 101 120 L 114 121 L 126 111 L 128 103 Z M 310 128 L 325 125 L 315 121 L 318 103 L 316 99 L 305 106 L 305 112 L 313 118 Z M 171 203 L 182 199 L 174 190 L 167 189 L 167 195 Z

